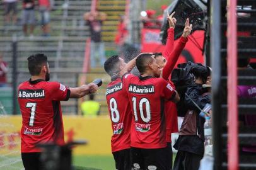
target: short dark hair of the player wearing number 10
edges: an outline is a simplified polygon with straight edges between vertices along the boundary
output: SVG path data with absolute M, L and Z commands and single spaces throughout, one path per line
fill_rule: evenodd
M 152 54 L 141 54 L 136 59 L 136 66 L 138 71 L 143 74 L 146 71 L 146 67 L 149 62 L 152 62 Z

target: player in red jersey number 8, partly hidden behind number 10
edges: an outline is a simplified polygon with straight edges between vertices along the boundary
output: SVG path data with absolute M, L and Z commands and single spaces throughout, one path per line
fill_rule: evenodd
M 107 86 L 106 98 L 113 130 L 112 154 L 115 159 L 115 168 L 119 170 L 131 169 L 132 111 L 121 77 L 132 70 L 135 61 L 136 58 L 125 64 L 118 55 L 113 55 L 104 64 L 105 71 L 111 77 L 111 82 Z

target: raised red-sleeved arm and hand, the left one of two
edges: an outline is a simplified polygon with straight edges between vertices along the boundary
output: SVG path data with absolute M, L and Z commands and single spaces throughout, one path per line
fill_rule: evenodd
M 173 51 L 173 44 L 174 44 L 174 28 L 177 20 L 173 18 L 173 15 L 175 12 L 173 12 L 171 15 L 169 15 L 167 11 L 167 19 L 169 22 L 170 28 L 167 30 L 167 42 L 165 45 L 165 51 L 163 52 L 163 56 L 165 57 L 166 60 L 168 60 L 168 57 L 172 54 Z

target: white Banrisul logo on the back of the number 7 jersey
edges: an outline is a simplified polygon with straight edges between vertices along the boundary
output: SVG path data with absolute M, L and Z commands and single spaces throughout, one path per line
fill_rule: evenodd
M 44 89 L 20 89 L 19 98 L 28 98 L 28 99 L 36 99 L 36 98 L 45 98 Z

